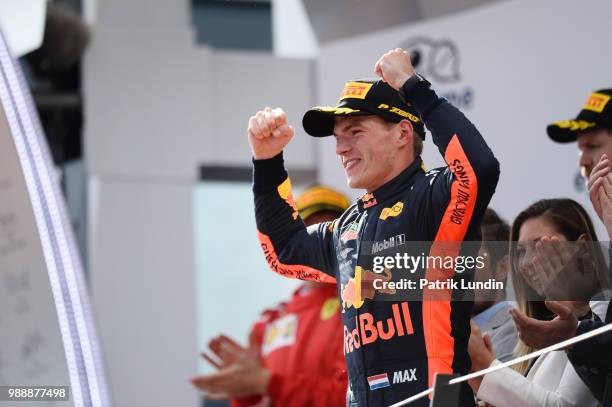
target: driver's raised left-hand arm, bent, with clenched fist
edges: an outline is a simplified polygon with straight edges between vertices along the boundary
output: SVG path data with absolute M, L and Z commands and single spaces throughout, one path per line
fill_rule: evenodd
M 255 219 L 261 248 L 272 271 L 285 277 L 335 282 L 331 251 L 334 224 L 306 228 L 298 215 L 283 148 L 293 137 L 280 109 L 266 108 L 251 117 Z

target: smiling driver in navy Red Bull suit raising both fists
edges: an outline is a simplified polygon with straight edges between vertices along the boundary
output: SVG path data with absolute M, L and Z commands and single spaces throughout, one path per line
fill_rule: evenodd
M 451 290 L 436 301 L 419 302 L 363 290 L 362 278 L 375 274 L 368 271 L 372 253 L 362 243 L 429 242 L 431 255 L 441 242 L 475 240 L 499 178 L 499 163 L 482 136 L 413 71 L 405 51 L 383 55 L 375 72 L 381 80 L 350 81 L 336 107 L 315 107 L 303 118 L 311 136 L 334 135 L 348 185 L 367 191 L 334 222 L 306 228 L 298 217 L 282 156 L 293 128 L 282 110 L 266 108 L 248 127 L 266 260 L 287 277 L 336 282 L 343 304 L 347 402 L 359 406 L 398 402 L 431 386 L 435 373 L 470 369 L 471 302 L 453 301 L 458 297 Z M 424 124 L 447 167 L 424 171 Z M 453 270 L 416 275 L 452 278 Z M 473 404 L 469 388 L 463 390 L 461 405 Z

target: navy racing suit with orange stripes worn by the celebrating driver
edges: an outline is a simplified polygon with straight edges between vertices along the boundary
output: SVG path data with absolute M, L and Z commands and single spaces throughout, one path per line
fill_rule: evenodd
M 447 297 L 423 300 L 429 298 L 424 292 L 421 300 L 393 300 L 384 298 L 389 294 L 361 290 L 361 280 L 371 276 L 371 252 L 384 242 L 428 242 L 431 255 L 440 242 L 478 240 L 481 217 L 499 178 L 497 159 L 457 108 L 423 84 L 403 93 L 432 133 L 446 166 L 426 172 L 417 157 L 333 222 L 305 227 L 282 153 L 253 161 L 257 229 L 271 269 L 337 284 L 351 401 L 359 406 L 408 398 L 431 387 L 436 372 L 469 372 L 472 302 L 456 296 L 465 293 L 447 290 Z M 379 244 L 366 247 L 364 242 Z M 416 275 L 440 277 L 431 269 Z M 450 277 L 456 277 L 452 270 Z M 428 402 L 424 398 L 411 406 Z M 461 405 L 473 404 L 464 384 Z

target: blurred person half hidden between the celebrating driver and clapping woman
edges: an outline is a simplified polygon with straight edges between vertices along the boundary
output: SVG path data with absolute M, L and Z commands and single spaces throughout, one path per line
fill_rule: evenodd
M 476 290 L 472 319 L 483 334 L 489 336 L 497 359 L 506 362 L 518 340 L 510 313 L 513 305 L 506 301 L 506 284 L 510 263 L 510 225 L 488 208 L 482 218 L 482 247 L 479 256 L 485 257 L 485 267 L 474 274 L 474 281 L 495 279 L 504 283 L 504 290 Z

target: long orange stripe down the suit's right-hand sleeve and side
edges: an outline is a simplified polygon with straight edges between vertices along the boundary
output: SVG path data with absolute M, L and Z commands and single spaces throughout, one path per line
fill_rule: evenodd
M 430 256 L 459 254 L 463 239 L 476 205 L 478 183 L 459 138 L 455 134 L 444 155 L 455 179 L 451 198 L 442 217 L 440 228 L 429 252 Z M 425 278 L 445 281 L 454 276 L 454 269 L 428 268 Z M 429 387 L 436 373 L 452 373 L 454 339 L 451 336 L 451 290 L 423 290 L 423 331 L 428 357 Z

